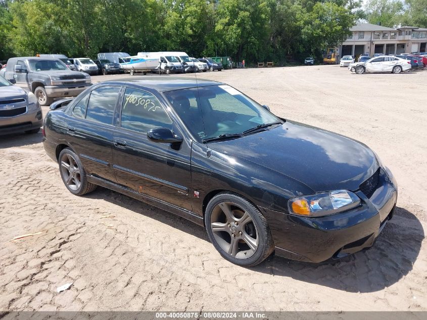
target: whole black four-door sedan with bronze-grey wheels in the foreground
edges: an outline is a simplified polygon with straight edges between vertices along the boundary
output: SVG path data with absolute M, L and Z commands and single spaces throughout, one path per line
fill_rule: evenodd
M 43 132 L 71 193 L 99 185 L 173 212 L 239 265 L 274 251 L 320 262 L 368 248 L 397 200 L 367 146 L 215 81 L 101 82 L 55 102 Z

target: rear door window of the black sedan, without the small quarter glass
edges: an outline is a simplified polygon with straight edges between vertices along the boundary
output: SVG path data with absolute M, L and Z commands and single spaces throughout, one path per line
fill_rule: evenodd
M 114 109 L 119 98 L 119 86 L 103 86 L 92 90 L 87 104 L 86 119 L 113 124 Z

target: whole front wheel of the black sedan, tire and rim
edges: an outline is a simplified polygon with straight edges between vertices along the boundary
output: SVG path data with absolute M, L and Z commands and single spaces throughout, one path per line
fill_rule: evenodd
M 215 249 L 234 264 L 254 266 L 274 251 L 267 220 L 238 194 L 223 192 L 213 197 L 206 206 L 205 226 Z

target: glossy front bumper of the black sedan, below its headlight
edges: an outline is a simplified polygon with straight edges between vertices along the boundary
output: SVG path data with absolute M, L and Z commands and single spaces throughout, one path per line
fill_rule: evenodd
M 362 202 L 359 207 L 324 217 L 309 218 L 263 209 L 275 254 L 293 260 L 321 262 L 371 247 L 393 216 L 397 187 L 381 169 L 377 189 L 369 199 L 361 191 L 355 193 Z

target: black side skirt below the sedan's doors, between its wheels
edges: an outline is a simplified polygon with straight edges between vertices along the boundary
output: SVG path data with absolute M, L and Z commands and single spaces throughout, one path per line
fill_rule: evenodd
M 203 227 L 205 226 L 203 223 L 203 217 L 201 217 L 201 216 L 199 216 L 199 215 L 197 215 L 191 211 L 179 208 L 177 206 L 174 206 L 174 205 L 169 204 L 167 202 L 155 199 L 153 197 L 137 193 L 133 190 L 124 188 L 122 186 L 118 186 L 116 184 L 113 184 L 112 182 L 106 181 L 104 179 L 98 178 L 98 177 L 93 176 L 93 175 L 88 175 L 87 181 L 89 181 L 91 184 L 95 184 L 95 185 L 98 185 L 98 186 L 101 186 L 101 187 L 104 187 L 107 189 L 111 189 L 113 191 L 119 192 L 119 193 L 124 194 L 126 196 L 129 196 L 131 198 L 134 198 L 136 200 L 148 203 L 148 204 L 150 204 L 156 208 L 159 208 L 159 209 L 171 212 L 173 214 L 179 215 L 180 217 L 183 217 L 187 220 L 190 220 L 190 221 L 192 221 L 196 224 L 199 224 Z

